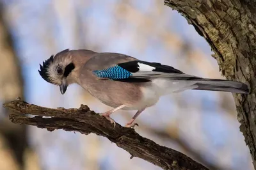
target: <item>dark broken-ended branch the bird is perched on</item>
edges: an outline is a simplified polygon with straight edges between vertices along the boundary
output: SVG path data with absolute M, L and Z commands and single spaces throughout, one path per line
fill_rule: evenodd
M 132 128 L 124 128 L 118 123 L 113 128 L 113 124 L 99 114 L 90 111 L 86 105 L 81 105 L 79 109 L 50 109 L 15 100 L 4 104 L 4 107 L 23 114 L 10 114 L 10 120 L 13 123 L 34 125 L 47 128 L 49 131 L 63 129 L 86 135 L 90 133 L 101 135 L 128 151 L 132 157 L 143 158 L 163 169 L 207 169 L 179 151 L 160 146 L 150 139 L 141 137 Z M 35 117 L 29 118 L 25 114 L 32 114 Z

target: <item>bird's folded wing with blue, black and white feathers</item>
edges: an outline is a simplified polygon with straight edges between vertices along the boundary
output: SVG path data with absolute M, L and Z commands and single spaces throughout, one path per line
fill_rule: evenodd
M 168 77 L 174 80 L 186 80 L 200 78 L 188 75 L 180 70 L 161 63 L 150 63 L 147 61 L 135 60 L 125 63 L 118 63 L 102 70 L 93 70 L 93 73 L 100 78 L 113 79 L 115 81 L 150 81 L 158 77 Z

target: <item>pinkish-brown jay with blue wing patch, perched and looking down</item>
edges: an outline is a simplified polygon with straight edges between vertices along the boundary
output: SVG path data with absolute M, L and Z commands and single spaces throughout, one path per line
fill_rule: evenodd
M 87 49 L 65 49 L 52 55 L 40 65 L 41 77 L 60 86 L 61 94 L 70 84 L 79 84 L 93 97 L 113 109 L 103 112 L 111 123 L 113 112 L 136 110 L 125 127 L 133 128 L 136 118 L 160 97 L 188 89 L 226 91 L 248 94 L 243 82 L 205 79 L 189 75 L 169 65 L 142 61 L 116 52 L 95 52 Z

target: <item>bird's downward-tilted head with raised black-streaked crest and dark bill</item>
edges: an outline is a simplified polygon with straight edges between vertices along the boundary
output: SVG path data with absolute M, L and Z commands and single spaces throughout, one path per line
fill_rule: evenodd
M 64 94 L 68 85 L 73 83 L 71 75 L 74 68 L 70 50 L 67 49 L 45 60 L 38 72 L 45 81 L 60 86 L 60 92 Z

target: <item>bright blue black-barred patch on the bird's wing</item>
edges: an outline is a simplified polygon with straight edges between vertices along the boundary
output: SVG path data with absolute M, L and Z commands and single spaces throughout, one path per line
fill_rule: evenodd
M 108 79 L 127 79 L 132 75 L 131 72 L 128 72 L 118 65 L 106 68 L 104 70 L 93 70 L 92 72 L 97 77 Z

